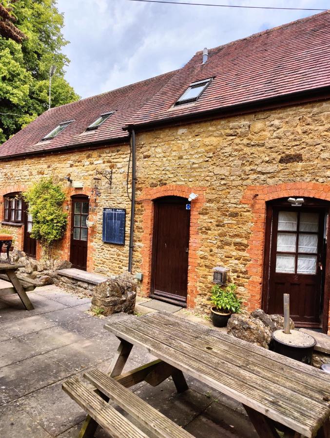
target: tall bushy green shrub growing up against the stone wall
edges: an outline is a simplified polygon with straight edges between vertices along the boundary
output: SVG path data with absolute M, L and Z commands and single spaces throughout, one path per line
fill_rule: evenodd
M 42 178 L 22 196 L 32 215 L 31 237 L 40 242 L 44 259 L 50 260 L 55 243 L 64 236 L 67 227 L 67 213 L 62 210 L 65 193 L 52 179 Z

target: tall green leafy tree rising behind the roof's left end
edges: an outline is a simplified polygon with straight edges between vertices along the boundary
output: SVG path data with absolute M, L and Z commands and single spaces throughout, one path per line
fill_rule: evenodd
M 56 1 L 17 0 L 15 16 L 15 24 L 26 38 L 18 43 L 0 37 L 0 143 L 48 109 L 51 65 L 57 67 L 52 106 L 79 98 L 64 79 L 69 59 L 62 48 L 68 41 L 61 33 L 63 15 L 58 13 Z

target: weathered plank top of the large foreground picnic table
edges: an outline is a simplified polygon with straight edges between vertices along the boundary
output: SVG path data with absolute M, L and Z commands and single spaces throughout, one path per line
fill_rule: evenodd
M 168 312 L 104 326 L 306 437 L 330 415 L 329 374 Z

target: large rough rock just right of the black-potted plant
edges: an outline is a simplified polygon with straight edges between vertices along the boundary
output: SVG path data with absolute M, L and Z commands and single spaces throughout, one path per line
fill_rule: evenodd
M 268 348 L 272 332 L 260 319 L 234 313 L 228 321 L 227 331 L 236 338 L 251 342 L 259 347 Z

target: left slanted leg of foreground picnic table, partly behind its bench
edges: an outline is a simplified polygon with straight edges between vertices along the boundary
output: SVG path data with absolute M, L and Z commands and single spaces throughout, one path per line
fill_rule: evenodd
M 116 351 L 116 354 L 114 356 L 114 359 L 108 369 L 108 374 L 110 374 L 111 377 L 116 377 L 121 374 L 121 371 L 123 370 L 128 356 L 130 355 L 130 352 L 132 351 L 133 344 L 130 344 L 127 341 L 124 341 L 123 339 L 119 339 L 120 344 Z M 101 394 L 99 391 L 97 393 L 106 401 L 109 402 L 109 398 L 106 397 L 104 394 Z M 89 415 L 87 415 L 86 420 L 83 422 L 83 425 L 80 429 L 78 438 L 92 438 L 94 437 L 94 434 L 97 430 L 97 422 L 92 419 Z

